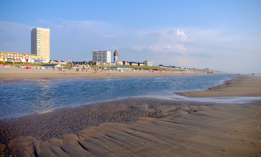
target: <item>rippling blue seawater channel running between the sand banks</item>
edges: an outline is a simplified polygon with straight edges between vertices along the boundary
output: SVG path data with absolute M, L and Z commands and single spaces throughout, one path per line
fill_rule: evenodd
M 235 104 L 261 99 L 261 97 L 187 98 L 173 93 L 206 90 L 236 77 L 237 74 L 207 74 L 3 81 L 0 84 L 0 120 L 128 97 Z

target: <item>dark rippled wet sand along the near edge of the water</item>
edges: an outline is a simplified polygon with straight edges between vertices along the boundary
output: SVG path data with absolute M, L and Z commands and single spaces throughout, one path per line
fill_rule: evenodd
M 6 144 L 19 136 L 40 140 L 62 138 L 63 135 L 98 126 L 101 123 L 128 121 L 130 117 L 163 118 L 181 105 L 214 105 L 205 102 L 186 102 L 157 99 L 120 99 L 109 102 L 61 108 L 44 114 L 34 114 L 8 121 L 0 121 L 0 141 Z M 183 109 L 184 110 L 184 109 Z M 184 111 L 190 112 L 185 109 Z

